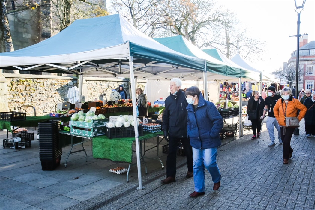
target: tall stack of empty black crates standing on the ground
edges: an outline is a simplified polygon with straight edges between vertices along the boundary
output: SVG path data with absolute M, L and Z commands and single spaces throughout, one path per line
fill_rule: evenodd
M 55 120 L 38 123 L 39 160 L 43 171 L 52 171 L 60 165 L 59 125 L 60 121 Z

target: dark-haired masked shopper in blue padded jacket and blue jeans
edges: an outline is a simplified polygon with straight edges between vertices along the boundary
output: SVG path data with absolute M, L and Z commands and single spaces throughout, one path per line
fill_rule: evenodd
M 206 168 L 214 182 L 213 190 L 221 185 L 221 174 L 216 162 L 218 146 L 221 145 L 219 133 L 223 120 L 212 102 L 203 98 L 197 87 L 187 88 L 188 102 L 187 134 L 192 145 L 195 191 L 189 196 L 194 198 L 204 195 Z

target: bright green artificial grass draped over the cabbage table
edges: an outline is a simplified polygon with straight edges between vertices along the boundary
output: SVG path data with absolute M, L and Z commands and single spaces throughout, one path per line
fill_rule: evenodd
M 143 132 L 143 136 L 139 136 L 139 140 L 151 139 L 161 134 L 163 132 Z M 94 137 L 92 147 L 93 157 L 115 162 L 132 163 L 132 145 L 134 141 L 135 137 L 114 139 L 109 139 L 105 135 Z

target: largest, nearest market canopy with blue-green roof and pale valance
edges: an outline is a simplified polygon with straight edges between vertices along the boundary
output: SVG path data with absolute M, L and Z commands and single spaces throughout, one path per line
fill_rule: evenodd
M 120 14 L 76 20 L 40 43 L 0 53 L 0 68 L 130 77 L 130 56 L 138 78 L 196 80 L 205 71 L 204 60 L 165 47 Z

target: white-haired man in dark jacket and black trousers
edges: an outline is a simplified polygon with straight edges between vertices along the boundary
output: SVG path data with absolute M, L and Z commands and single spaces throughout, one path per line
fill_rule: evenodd
M 187 138 L 187 110 L 185 92 L 181 90 L 182 83 L 179 78 L 170 82 L 170 94 L 165 99 L 163 111 L 164 139 L 169 141 L 169 154 L 166 160 L 166 179 L 161 182 L 169 184 L 175 182 L 176 177 L 176 151 L 179 141 L 183 144 L 187 157 L 188 172 L 186 177 L 193 176 L 192 146 Z

